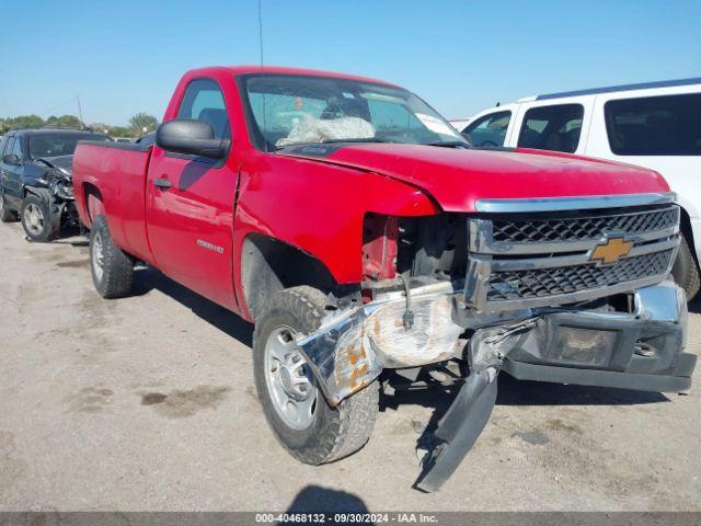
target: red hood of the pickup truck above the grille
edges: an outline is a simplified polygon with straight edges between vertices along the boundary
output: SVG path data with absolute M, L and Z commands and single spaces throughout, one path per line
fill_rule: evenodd
M 644 168 L 539 150 L 422 145 L 306 145 L 280 155 L 379 173 L 422 188 L 446 211 L 474 211 L 484 198 L 574 197 L 668 192 Z

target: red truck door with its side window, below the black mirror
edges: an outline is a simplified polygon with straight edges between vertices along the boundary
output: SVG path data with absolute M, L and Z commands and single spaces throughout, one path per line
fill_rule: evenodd
M 196 79 L 179 118 L 204 121 L 217 138 L 231 138 L 223 93 Z M 147 176 L 147 229 L 157 266 L 227 308 L 233 307 L 232 227 L 237 171 L 212 160 L 153 147 Z

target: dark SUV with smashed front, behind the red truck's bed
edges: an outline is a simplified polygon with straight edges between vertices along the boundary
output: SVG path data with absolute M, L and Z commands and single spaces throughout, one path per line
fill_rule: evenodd
M 77 225 L 72 161 L 79 140 L 111 140 L 77 129 L 15 129 L 0 141 L 0 220 L 22 220 L 32 241 Z

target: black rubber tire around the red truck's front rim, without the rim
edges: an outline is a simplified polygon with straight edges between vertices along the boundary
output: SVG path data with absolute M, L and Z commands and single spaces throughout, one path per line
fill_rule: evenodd
M 253 368 L 258 399 L 279 443 L 295 458 L 311 465 L 338 460 L 360 449 L 370 437 L 378 413 L 379 388 L 374 381 L 332 408 L 318 391 L 311 424 L 304 430 L 289 426 L 273 405 L 266 385 L 265 345 L 280 327 L 309 334 L 324 316 L 325 295 L 308 287 L 292 287 L 271 297 L 263 306 L 253 333 Z

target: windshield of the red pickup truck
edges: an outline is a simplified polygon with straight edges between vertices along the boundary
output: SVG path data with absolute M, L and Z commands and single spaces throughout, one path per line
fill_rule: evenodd
M 330 77 L 244 78 L 258 148 L 312 142 L 468 142 L 424 101 L 400 88 Z

